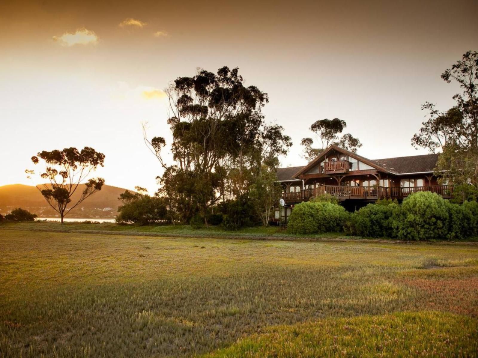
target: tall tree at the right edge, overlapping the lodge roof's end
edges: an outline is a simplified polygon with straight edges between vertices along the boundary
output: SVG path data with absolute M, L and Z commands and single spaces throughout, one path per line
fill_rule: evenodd
M 440 152 L 435 172 L 454 184 L 478 188 L 478 52 L 468 51 L 441 75 L 446 83 L 456 82 L 462 93 L 445 112 L 426 102 L 428 120 L 412 138 L 412 145 Z

